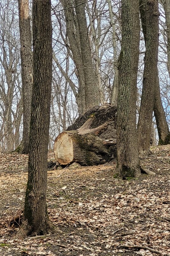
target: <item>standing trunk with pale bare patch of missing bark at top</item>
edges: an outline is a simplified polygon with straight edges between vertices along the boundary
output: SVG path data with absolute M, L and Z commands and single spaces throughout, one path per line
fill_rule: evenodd
M 33 79 L 29 1 L 19 0 L 18 6 L 19 31 L 21 42 L 21 75 L 23 92 L 23 139 L 20 147 L 18 148 L 18 151 L 21 154 L 28 154 Z

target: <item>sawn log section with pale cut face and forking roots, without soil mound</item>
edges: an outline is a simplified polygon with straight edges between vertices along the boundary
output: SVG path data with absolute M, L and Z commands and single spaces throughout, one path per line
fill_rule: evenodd
M 78 162 L 81 165 L 97 165 L 110 160 L 107 148 L 97 134 L 107 128 L 107 123 L 90 129 L 93 118 L 76 131 L 66 131 L 58 135 L 54 142 L 56 160 L 63 165 Z M 114 143 L 116 143 L 114 141 Z

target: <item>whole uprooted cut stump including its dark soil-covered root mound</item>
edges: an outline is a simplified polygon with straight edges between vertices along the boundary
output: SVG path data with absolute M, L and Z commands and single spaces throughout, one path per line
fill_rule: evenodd
M 112 161 L 116 154 L 116 110 L 115 106 L 102 105 L 78 117 L 73 124 L 76 127 L 77 123 L 76 130 L 70 131 L 69 127 L 69 131 L 61 132 L 55 139 L 56 160 L 61 165 L 72 162 L 98 165 Z

